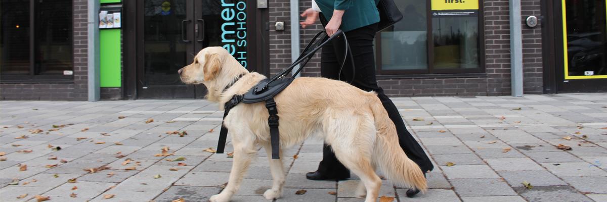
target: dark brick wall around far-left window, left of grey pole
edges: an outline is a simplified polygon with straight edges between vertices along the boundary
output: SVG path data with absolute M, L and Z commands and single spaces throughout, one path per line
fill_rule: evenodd
M 0 84 L 0 99 L 87 100 L 87 1 L 73 0 L 72 6 L 73 83 Z

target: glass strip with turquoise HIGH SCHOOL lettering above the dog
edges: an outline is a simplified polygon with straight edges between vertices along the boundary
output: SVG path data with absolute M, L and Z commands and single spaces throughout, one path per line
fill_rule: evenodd
M 248 66 L 246 1 L 224 1 L 221 4 L 220 16 L 220 46 L 228 50 L 246 68 Z

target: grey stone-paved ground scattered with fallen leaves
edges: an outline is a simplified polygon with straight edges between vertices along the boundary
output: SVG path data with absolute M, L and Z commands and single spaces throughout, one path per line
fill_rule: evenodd
M 607 186 L 605 93 L 393 101 L 435 170 L 427 173 L 430 189 L 424 195 L 407 198 L 407 189 L 392 187 L 389 179 L 381 195 L 400 201 L 607 201 L 602 189 Z M 0 161 L 0 201 L 25 201 L 36 194 L 52 201 L 206 201 L 228 181 L 233 161 L 225 153 L 203 152 L 217 147 L 222 115 L 205 100 L 0 101 L 0 152 L 6 158 Z M 144 123 L 148 118 L 154 122 Z M 49 131 L 61 124 L 73 125 Z M 28 131 L 35 129 L 43 132 Z M 166 134 L 174 130 L 188 135 Z M 21 135 L 28 138 L 15 139 Z M 557 149 L 557 144 L 572 150 Z M 165 146 L 175 154 L 155 157 Z M 228 140 L 226 153 L 233 150 Z M 277 201 L 362 201 L 353 194 L 356 175 L 341 182 L 305 179 L 322 160 L 322 140 L 312 138 L 283 153 L 288 173 Z M 177 157 L 185 161 L 168 161 Z M 127 159 L 132 161 L 123 165 Z M 19 164 L 27 164 L 27 170 L 18 171 Z M 110 169 L 84 170 L 100 166 Z M 131 166 L 135 170 L 125 170 Z M 232 201 L 268 201 L 262 196 L 271 186 L 268 166 L 260 149 Z M 8 185 L 13 178 L 19 185 Z M 67 183 L 70 178 L 76 183 Z M 526 189 L 522 181 L 535 187 Z M 299 189 L 308 192 L 295 195 Z M 69 197 L 72 192 L 76 198 Z M 21 194 L 29 195 L 17 199 Z M 105 200 L 106 194 L 115 196 Z

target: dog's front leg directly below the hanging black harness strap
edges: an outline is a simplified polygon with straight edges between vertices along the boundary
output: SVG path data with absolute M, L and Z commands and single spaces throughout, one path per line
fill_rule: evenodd
M 268 154 L 268 160 L 270 161 L 270 171 L 272 173 L 272 189 L 268 189 L 263 193 L 263 197 L 267 200 L 273 200 L 280 198 L 282 194 L 282 186 L 285 185 L 285 167 L 282 163 L 282 150 L 280 151 L 280 159 L 272 159 L 272 146 L 270 144 L 264 144 L 263 149 Z

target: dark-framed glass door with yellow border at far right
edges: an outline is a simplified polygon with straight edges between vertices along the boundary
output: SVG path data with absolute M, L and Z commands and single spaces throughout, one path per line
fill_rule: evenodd
M 561 0 L 559 92 L 607 90 L 606 0 Z M 558 45 L 557 45 L 558 47 Z

